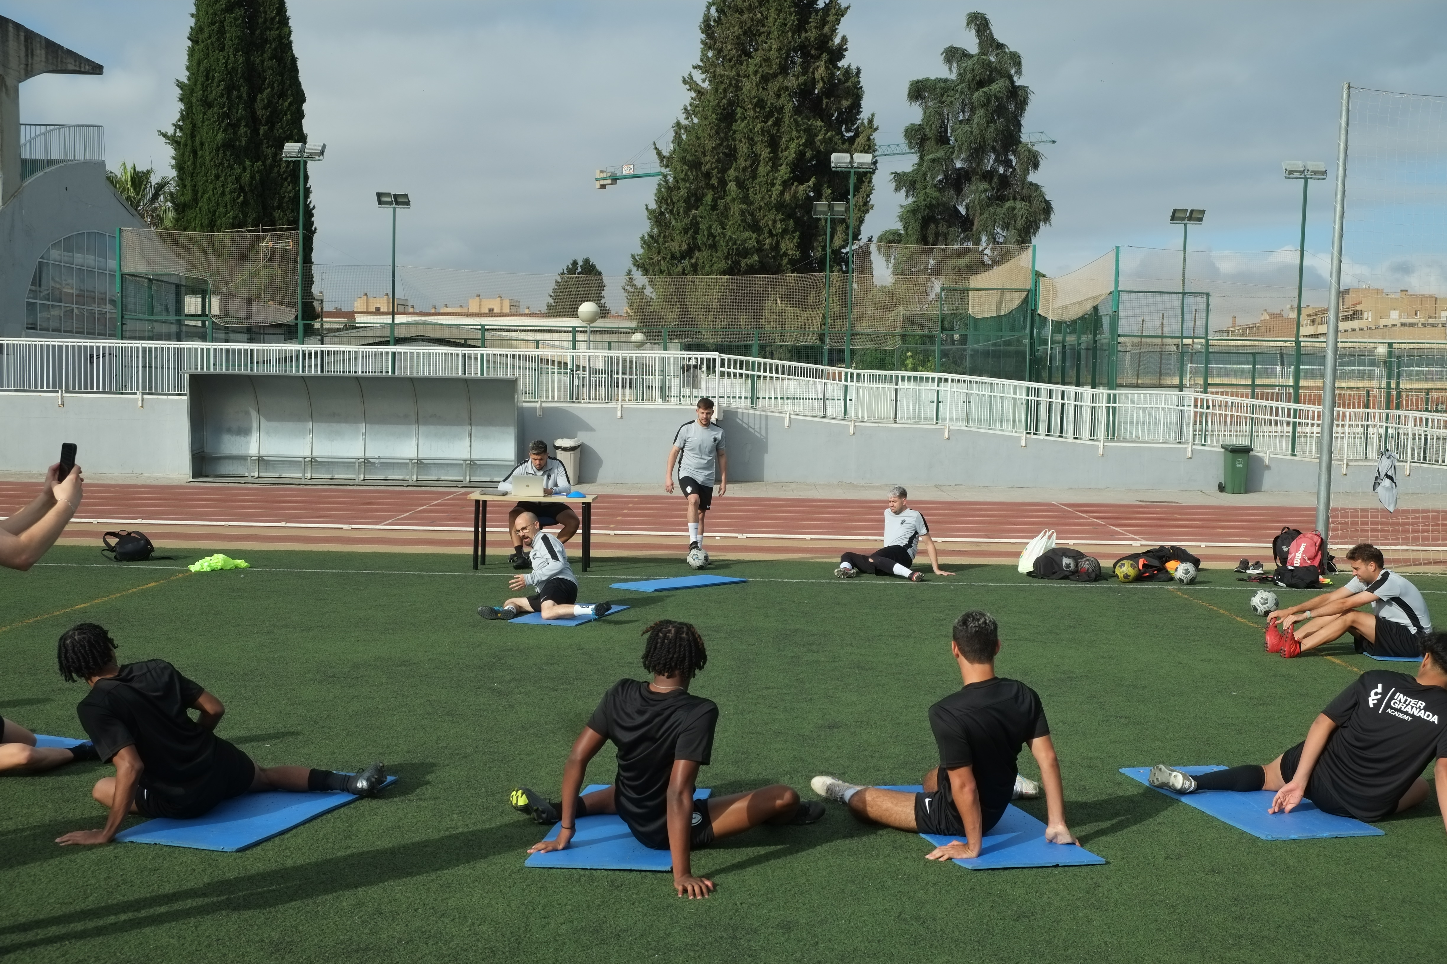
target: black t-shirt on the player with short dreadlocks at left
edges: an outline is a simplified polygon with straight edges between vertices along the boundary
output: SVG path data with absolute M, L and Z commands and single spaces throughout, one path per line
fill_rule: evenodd
M 166 660 L 152 659 L 98 679 L 75 713 L 101 760 L 133 746 L 146 783 L 185 786 L 210 773 L 216 754 L 216 734 L 187 714 L 203 692 Z

